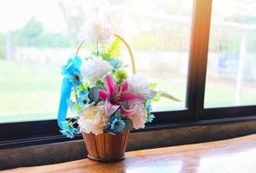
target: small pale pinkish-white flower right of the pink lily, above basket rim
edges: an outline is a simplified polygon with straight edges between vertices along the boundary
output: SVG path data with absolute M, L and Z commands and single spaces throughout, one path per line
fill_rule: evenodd
M 128 115 L 128 119 L 131 119 L 135 129 L 140 129 L 145 127 L 147 121 L 147 110 L 142 103 L 139 103 L 135 111 Z

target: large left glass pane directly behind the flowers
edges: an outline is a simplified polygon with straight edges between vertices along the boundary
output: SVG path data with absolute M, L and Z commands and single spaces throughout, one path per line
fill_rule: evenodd
M 0 122 L 56 119 L 60 67 L 95 16 L 105 17 L 130 43 L 138 74 L 181 99 L 161 99 L 154 111 L 185 108 L 192 2 L 2 1 Z

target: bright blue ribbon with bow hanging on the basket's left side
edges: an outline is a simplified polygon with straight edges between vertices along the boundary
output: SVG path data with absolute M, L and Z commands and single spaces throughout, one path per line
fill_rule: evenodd
M 62 121 L 66 120 L 68 112 L 67 100 L 70 98 L 72 91 L 72 82 L 70 81 L 72 78 L 70 78 L 70 76 L 73 76 L 75 71 L 80 71 L 81 64 L 81 58 L 75 55 L 74 58 L 69 58 L 67 64 L 62 67 L 63 80 L 57 120 L 61 129 L 63 129 Z

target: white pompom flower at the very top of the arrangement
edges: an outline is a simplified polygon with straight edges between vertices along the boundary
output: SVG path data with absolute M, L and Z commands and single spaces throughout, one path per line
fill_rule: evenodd
M 90 42 L 108 42 L 112 35 L 111 25 L 102 19 L 89 22 L 82 33 L 83 40 Z

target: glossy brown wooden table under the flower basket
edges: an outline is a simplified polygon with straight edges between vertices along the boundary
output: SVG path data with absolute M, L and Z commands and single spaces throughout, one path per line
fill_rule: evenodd
M 256 134 L 204 144 L 131 151 L 119 163 L 96 163 L 82 159 L 3 172 L 256 173 Z

